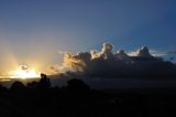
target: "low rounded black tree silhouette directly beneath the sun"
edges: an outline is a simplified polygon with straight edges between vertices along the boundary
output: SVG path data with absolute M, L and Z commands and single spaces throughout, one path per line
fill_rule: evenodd
M 11 85 L 11 87 L 10 87 L 10 89 L 12 89 L 12 91 L 23 91 L 23 89 L 25 89 L 25 88 L 26 88 L 25 85 L 22 84 L 22 83 L 19 82 L 19 81 L 14 82 L 14 83 Z

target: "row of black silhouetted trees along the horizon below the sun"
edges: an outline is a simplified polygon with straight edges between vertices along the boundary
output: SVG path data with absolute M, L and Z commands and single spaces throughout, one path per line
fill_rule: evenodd
M 32 91 L 32 89 L 40 89 L 40 91 L 45 91 L 45 89 L 59 89 L 59 88 L 69 88 L 69 89 L 74 89 L 74 91 L 89 91 L 90 87 L 85 84 L 81 79 L 77 79 L 77 78 L 73 78 L 70 81 L 67 82 L 67 86 L 66 87 L 52 87 L 51 84 L 51 79 L 45 75 L 45 74 L 41 74 L 41 78 L 38 82 L 29 82 L 26 83 L 26 85 L 24 85 L 22 82 L 20 81 L 15 81 L 14 83 L 12 83 L 12 85 L 10 86 L 10 88 L 7 88 L 2 85 L 0 85 L 0 91 L 14 91 L 14 92 L 22 92 L 22 91 Z

